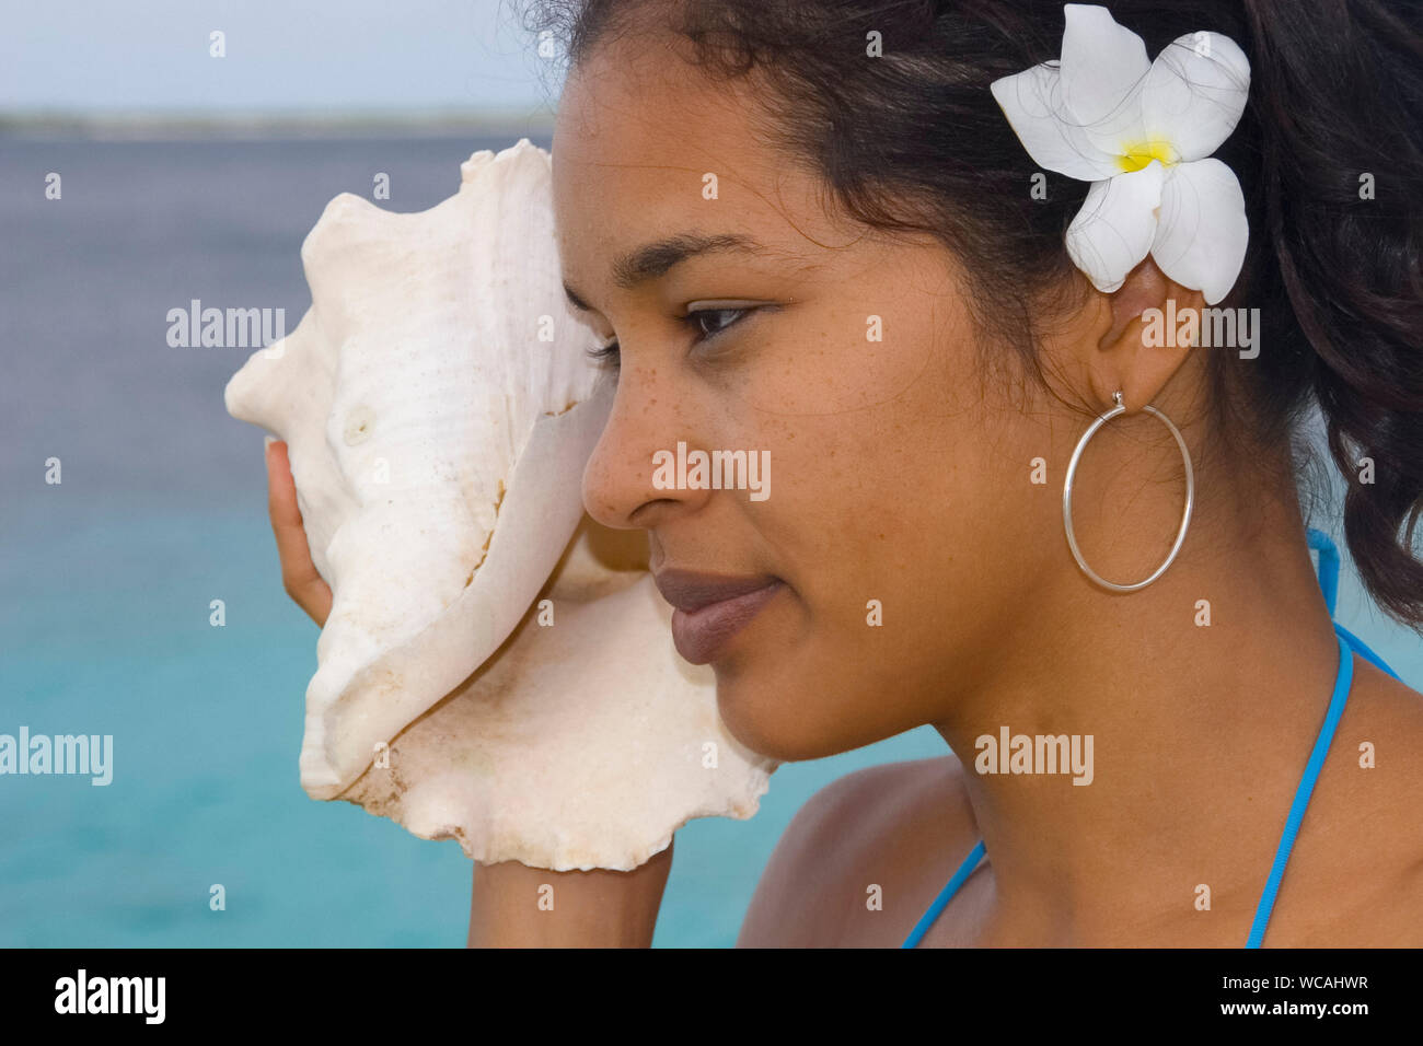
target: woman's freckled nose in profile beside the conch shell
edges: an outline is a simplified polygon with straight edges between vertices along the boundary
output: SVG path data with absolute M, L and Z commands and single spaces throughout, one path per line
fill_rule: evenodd
M 623 366 L 608 424 L 583 470 L 583 508 L 593 519 L 616 529 L 652 528 L 707 497 L 655 482 L 657 451 L 676 453 L 679 440 L 696 445 L 687 403 L 656 369 Z

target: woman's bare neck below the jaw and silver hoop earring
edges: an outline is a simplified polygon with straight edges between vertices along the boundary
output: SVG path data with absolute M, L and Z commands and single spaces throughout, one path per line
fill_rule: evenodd
M 1002 934 L 1103 942 L 1188 915 L 1201 882 L 1214 911 L 1254 909 L 1339 667 L 1298 509 L 1272 504 L 1138 592 L 1037 589 L 935 724 Z

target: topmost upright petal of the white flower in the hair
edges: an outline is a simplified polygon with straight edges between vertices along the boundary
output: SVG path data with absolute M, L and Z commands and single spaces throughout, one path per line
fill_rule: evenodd
M 1097 148 L 1123 155 L 1124 145 L 1143 137 L 1147 46 L 1106 7 L 1063 4 L 1063 102 Z

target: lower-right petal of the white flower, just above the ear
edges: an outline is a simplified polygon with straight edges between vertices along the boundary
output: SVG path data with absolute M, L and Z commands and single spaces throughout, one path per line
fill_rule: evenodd
M 1249 243 L 1245 196 L 1218 159 L 1171 168 L 1161 186 L 1161 216 L 1151 256 L 1170 279 L 1215 305 L 1239 276 Z

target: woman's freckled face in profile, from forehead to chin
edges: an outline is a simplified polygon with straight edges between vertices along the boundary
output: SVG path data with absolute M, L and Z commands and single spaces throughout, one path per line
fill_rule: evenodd
M 729 638 L 690 629 L 679 648 L 709 659 L 740 741 L 815 759 L 939 720 L 1025 623 L 1062 569 L 1056 490 L 1029 480 L 1056 444 L 980 381 L 952 255 L 832 213 L 757 132 L 750 90 L 646 41 L 569 75 L 564 278 L 620 346 L 583 500 L 649 532 L 662 579 L 783 582 Z M 669 238 L 723 245 L 622 263 Z M 679 443 L 768 460 L 764 498 L 659 485 L 655 455 Z

